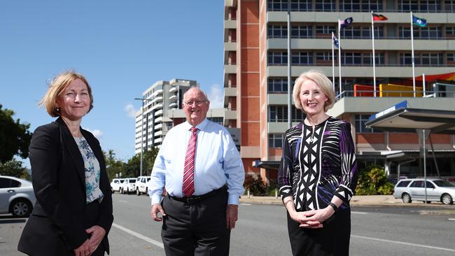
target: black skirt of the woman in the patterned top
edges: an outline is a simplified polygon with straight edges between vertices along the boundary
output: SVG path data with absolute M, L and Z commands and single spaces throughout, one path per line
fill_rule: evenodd
M 287 213 L 287 211 L 286 211 Z M 351 238 L 351 210 L 340 209 L 320 229 L 299 227 L 288 215 L 290 248 L 294 256 L 347 256 Z

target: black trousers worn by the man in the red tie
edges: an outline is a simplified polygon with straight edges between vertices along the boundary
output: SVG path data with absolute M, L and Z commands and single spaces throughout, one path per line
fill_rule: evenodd
M 230 229 L 226 227 L 228 192 L 217 190 L 210 197 L 190 204 L 165 197 L 161 237 L 168 256 L 229 255 Z

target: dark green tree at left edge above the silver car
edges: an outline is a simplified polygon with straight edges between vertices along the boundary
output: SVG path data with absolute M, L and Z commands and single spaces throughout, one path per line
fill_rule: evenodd
M 31 141 L 30 125 L 22 124 L 19 119 L 14 120 L 14 111 L 1 108 L 0 104 L 0 163 L 10 161 L 14 155 L 27 158 Z

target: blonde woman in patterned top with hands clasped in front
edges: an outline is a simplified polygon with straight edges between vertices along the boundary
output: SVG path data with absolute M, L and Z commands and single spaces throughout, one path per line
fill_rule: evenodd
M 320 71 L 297 78 L 293 99 L 306 118 L 286 131 L 278 174 L 293 255 L 349 255 L 358 174 L 351 125 L 325 113 L 335 92 Z

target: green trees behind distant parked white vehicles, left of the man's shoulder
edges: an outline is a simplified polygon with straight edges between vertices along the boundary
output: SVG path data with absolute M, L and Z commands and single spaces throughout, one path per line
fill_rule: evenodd
M 153 163 L 158 155 L 158 148 L 152 147 L 143 152 L 142 155 L 142 175 L 149 176 L 152 173 Z M 141 173 L 141 153 L 134 155 L 125 164 L 123 177 L 137 177 Z

